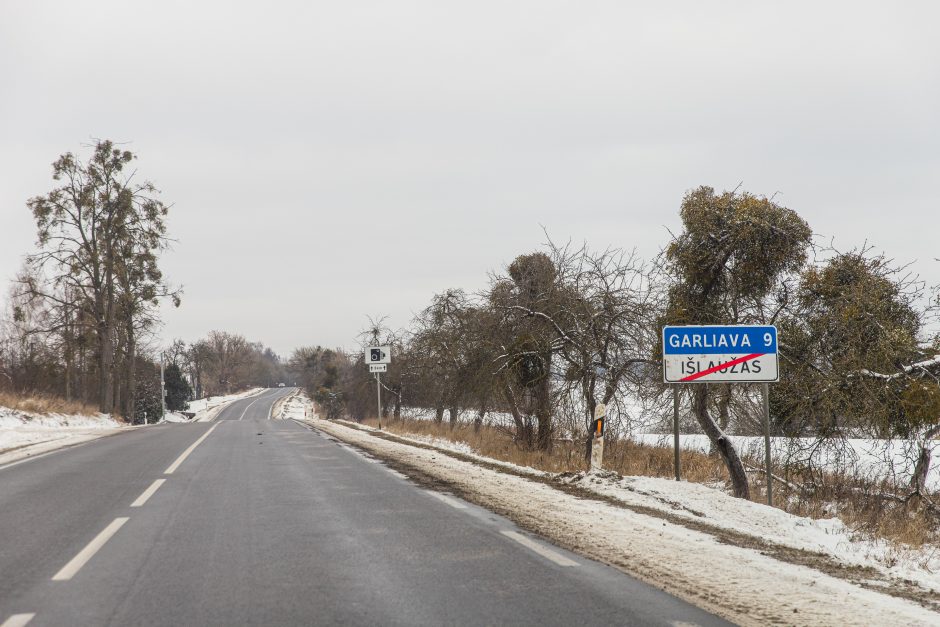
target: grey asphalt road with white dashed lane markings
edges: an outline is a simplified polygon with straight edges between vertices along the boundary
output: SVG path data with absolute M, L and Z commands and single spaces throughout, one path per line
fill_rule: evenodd
M 289 391 L 0 467 L 0 626 L 724 624 L 269 420 Z

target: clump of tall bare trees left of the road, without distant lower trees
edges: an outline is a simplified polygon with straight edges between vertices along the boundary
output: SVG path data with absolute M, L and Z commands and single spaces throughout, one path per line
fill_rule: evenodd
M 52 166 L 55 187 L 27 202 L 37 247 L 3 320 L 6 386 L 138 413 L 141 346 L 160 301 L 178 306 L 181 292 L 159 266 L 168 207 L 134 160 L 110 141 L 96 142 L 87 161 L 66 153 Z

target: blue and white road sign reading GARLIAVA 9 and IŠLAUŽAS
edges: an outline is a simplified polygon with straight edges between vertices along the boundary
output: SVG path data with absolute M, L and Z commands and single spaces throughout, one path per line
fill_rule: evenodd
M 663 380 L 666 383 L 758 383 L 778 378 L 777 327 L 663 328 Z

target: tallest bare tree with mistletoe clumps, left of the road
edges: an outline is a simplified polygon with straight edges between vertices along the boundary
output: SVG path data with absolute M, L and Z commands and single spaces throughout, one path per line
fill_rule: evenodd
M 156 254 L 165 245 L 167 207 L 156 199 L 152 183 L 135 182 L 135 173 L 125 171 L 134 158 L 110 141 L 98 142 L 86 163 L 66 153 L 53 164 L 53 179 L 61 185 L 27 203 L 40 246 L 29 261 L 46 270 L 50 281 L 25 287 L 70 316 L 78 307 L 89 315 L 103 412 L 116 409 L 115 342 L 122 290 L 131 300 L 152 300 L 159 298 L 159 288 L 150 299 L 146 292 L 162 285 Z

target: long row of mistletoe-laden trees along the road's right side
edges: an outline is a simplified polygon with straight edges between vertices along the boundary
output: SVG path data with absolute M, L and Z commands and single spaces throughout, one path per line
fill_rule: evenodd
M 671 411 L 663 325 L 775 324 L 775 434 L 904 439 L 921 460 L 911 485 L 922 489 L 940 431 L 938 295 L 870 248 L 815 246 L 806 221 L 770 198 L 702 187 L 683 198 L 680 217 L 681 232 L 650 261 L 549 241 L 480 293 L 435 295 L 405 330 L 373 321 L 362 345 L 394 353 L 383 411 L 490 420 L 518 446 L 542 450 L 586 437 L 599 403 L 615 427 L 655 428 Z M 289 367 L 321 402 L 341 397 L 352 417 L 374 415 L 361 354 L 302 349 Z M 758 433 L 758 398 L 749 385 L 682 390 L 688 426 L 708 436 L 742 497 L 745 467 L 727 436 Z

